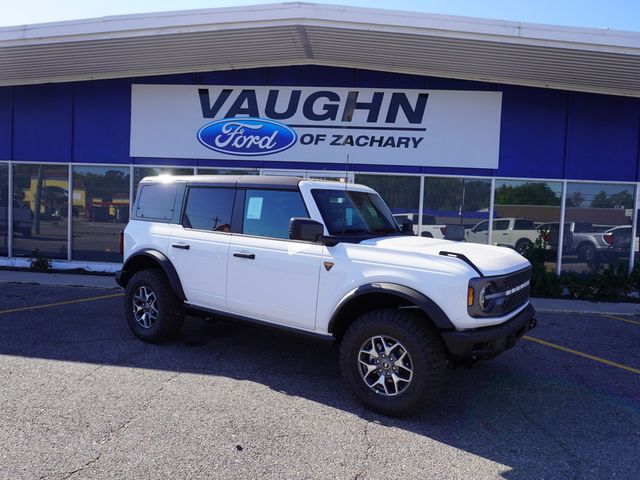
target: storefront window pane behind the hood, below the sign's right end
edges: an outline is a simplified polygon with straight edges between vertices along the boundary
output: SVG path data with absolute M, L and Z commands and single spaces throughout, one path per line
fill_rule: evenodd
M 490 197 L 491 180 L 426 177 L 420 235 L 487 243 Z

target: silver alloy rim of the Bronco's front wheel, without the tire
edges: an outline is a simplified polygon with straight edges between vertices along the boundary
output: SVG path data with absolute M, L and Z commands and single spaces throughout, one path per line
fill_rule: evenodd
M 384 396 L 402 393 L 413 379 L 413 362 L 407 349 L 393 337 L 369 338 L 358 352 L 358 370 L 364 383 Z

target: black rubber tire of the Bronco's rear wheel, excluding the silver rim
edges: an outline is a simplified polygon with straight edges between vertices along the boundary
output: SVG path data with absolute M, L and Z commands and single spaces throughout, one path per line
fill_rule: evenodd
M 156 298 L 157 318 L 148 326 L 142 326 L 134 315 L 134 296 L 141 287 L 153 292 Z M 129 282 L 124 298 L 127 323 L 134 335 L 149 343 L 161 343 L 178 336 L 184 323 L 183 303 L 173 293 L 162 270 L 151 269 L 136 272 Z

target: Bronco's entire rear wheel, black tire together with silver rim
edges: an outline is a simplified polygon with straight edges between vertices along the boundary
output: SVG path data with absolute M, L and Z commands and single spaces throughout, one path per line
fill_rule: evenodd
M 125 314 L 136 337 L 150 343 L 175 338 L 184 321 L 182 302 L 161 270 L 141 270 L 127 283 Z

